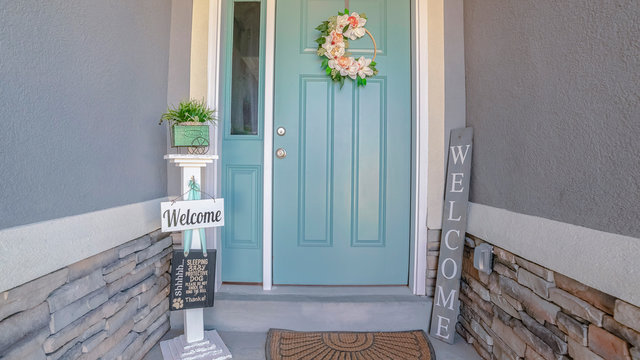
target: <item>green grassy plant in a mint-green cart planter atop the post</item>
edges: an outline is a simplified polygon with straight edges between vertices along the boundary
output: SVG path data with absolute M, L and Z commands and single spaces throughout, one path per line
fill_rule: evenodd
M 215 111 L 204 100 L 181 101 L 162 114 L 171 129 L 171 146 L 188 147 L 189 153 L 205 154 L 209 149 L 209 124 L 215 125 Z

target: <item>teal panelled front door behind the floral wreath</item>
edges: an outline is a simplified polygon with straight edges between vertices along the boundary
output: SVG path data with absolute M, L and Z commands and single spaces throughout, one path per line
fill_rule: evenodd
M 380 73 L 331 82 L 315 27 L 344 0 L 278 0 L 273 166 L 273 281 L 406 285 L 411 186 L 409 0 L 351 0 L 366 13 Z M 350 42 L 373 56 L 368 36 Z

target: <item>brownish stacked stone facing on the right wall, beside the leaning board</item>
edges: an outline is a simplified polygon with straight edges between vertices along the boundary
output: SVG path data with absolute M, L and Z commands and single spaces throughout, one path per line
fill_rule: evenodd
M 483 242 L 466 241 L 456 325 L 483 359 L 640 359 L 640 308 L 499 247 L 478 272 Z

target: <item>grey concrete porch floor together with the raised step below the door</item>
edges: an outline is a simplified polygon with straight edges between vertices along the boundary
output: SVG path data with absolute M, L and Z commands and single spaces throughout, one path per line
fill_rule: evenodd
M 408 287 L 276 286 L 263 291 L 260 286 L 223 285 L 215 298 L 214 308 L 205 312 L 205 328 L 218 330 L 234 360 L 265 359 L 267 330 L 271 327 L 305 331 L 427 330 L 432 301 L 412 295 Z M 320 313 L 323 315 L 318 316 Z M 416 317 L 424 321 L 416 321 Z M 172 324 L 176 328 L 161 341 L 183 333 L 181 314 L 172 314 Z M 439 360 L 480 359 L 473 346 L 457 334 L 453 345 L 429 339 Z M 162 360 L 160 345 L 144 360 Z

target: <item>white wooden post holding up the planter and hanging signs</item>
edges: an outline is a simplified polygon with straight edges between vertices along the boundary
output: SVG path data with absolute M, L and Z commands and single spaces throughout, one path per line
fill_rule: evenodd
M 205 168 L 207 164 L 213 163 L 213 160 L 218 159 L 218 156 L 170 154 L 165 155 L 164 158 L 181 168 L 182 192 L 185 193 L 184 200 L 187 200 L 187 193 L 190 189 L 189 180 L 193 177 L 195 182 L 202 186 L 202 169 Z M 182 236 L 184 238 L 184 232 Z M 199 249 L 202 249 L 200 245 L 200 232 L 193 231 L 191 250 Z M 204 339 L 204 309 L 184 310 L 184 336 L 189 343 Z

